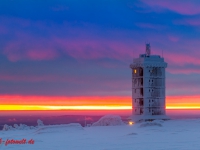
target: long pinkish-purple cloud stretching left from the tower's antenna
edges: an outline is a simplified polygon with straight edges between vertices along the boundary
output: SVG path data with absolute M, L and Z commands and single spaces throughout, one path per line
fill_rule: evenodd
M 58 39 L 53 40 L 71 57 L 77 59 L 114 58 L 123 60 L 133 57 L 134 49 L 138 45 L 126 44 L 119 41 L 104 39 Z M 133 42 L 132 42 L 133 43 Z

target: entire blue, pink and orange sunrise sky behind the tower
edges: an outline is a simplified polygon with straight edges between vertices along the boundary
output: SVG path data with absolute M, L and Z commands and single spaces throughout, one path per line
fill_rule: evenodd
M 167 109 L 200 108 L 200 1 L 0 2 L 0 110 L 129 110 L 132 59 L 163 55 Z

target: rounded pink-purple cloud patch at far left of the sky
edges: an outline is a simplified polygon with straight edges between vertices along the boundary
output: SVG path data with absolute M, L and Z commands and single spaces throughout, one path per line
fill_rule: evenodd
M 17 40 L 10 41 L 4 48 L 4 54 L 10 61 L 21 59 L 51 60 L 58 57 L 58 53 L 48 39 L 18 34 Z

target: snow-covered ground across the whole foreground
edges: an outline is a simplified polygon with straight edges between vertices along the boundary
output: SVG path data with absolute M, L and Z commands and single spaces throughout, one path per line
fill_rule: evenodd
M 5 146 L 2 143 L 1 150 L 199 150 L 200 119 L 143 122 L 132 126 L 44 125 L 0 131 L 1 138 L 34 140 L 34 144 Z

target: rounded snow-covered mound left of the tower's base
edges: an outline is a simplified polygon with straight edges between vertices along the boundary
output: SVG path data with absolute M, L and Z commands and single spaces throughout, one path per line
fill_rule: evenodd
M 121 117 L 117 115 L 105 115 L 101 117 L 97 122 L 92 124 L 92 126 L 118 126 L 118 125 L 125 125 L 125 123 L 121 120 Z

